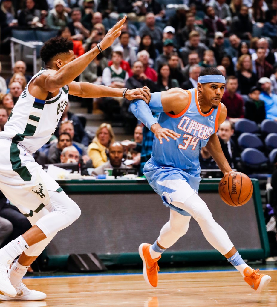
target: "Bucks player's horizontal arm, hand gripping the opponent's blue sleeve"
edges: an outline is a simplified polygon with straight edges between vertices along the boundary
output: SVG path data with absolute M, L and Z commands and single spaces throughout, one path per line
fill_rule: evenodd
M 100 97 L 122 97 L 124 88 L 114 88 L 105 85 L 91 84 L 88 82 L 71 82 L 68 84 L 69 94 L 82 98 L 100 98 Z M 148 87 L 127 89 L 124 97 L 128 100 L 143 99 L 145 103 L 150 101 L 150 90 Z

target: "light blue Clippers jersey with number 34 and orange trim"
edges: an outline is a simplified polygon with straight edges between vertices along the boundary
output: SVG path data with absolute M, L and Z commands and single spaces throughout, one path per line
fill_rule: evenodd
M 189 103 L 179 114 L 160 113 L 158 122 L 163 128 L 169 128 L 180 133 L 176 141 L 170 138 L 163 144 L 154 138 L 152 159 L 154 162 L 183 169 L 195 176 L 200 173 L 199 152 L 206 146 L 209 137 L 217 131 L 220 104 L 217 109 L 211 109 L 207 114 L 201 112 L 197 99 L 197 89 L 189 93 Z

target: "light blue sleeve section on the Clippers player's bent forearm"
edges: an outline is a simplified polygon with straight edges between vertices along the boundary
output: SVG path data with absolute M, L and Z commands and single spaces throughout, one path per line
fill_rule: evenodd
M 142 99 L 135 99 L 131 101 L 130 109 L 133 112 L 133 115 L 136 116 L 149 130 L 152 125 L 157 123 L 157 120 L 154 119 L 148 104 Z

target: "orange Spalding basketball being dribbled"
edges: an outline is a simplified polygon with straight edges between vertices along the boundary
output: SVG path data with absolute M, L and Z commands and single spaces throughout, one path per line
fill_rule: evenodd
M 219 195 L 229 206 L 242 206 L 253 193 L 253 185 L 248 176 L 240 172 L 226 174 L 219 182 Z

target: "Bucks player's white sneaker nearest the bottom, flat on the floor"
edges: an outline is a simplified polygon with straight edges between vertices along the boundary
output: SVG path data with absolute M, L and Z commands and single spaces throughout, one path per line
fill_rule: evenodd
M 16 296 L 0 295 L 0 301 L 42 301 L 46 298 L 45 293 L 29 290 L 23 283 L 13 286 L 13 289 L 17 292 Z

